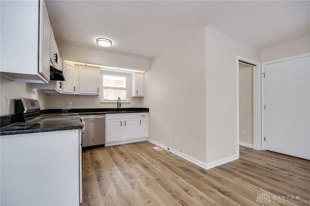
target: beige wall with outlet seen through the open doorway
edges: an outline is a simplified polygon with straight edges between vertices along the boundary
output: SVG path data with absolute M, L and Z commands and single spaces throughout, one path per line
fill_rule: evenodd
M 239 63 L 239 123 L 240 144 L 253 147 L 253 66 L 243 63 Z

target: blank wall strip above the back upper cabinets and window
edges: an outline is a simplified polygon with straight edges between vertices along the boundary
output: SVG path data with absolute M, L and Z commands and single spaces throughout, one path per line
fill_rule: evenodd
M 63 60 L 93 63 L 105 66 L 122 67 L 128 69 L 149 70 L 148 59 L 138 59 L 124 55 L 110 54 L 74 46 L 57 44 L 60 56 Z

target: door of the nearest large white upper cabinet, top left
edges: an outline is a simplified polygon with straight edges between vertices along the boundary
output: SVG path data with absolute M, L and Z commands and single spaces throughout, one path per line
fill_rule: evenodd
M 40 3 L 40 39 L 39 39 L 39 73 L 49 81 L 49 62 L 51 47 L 51 27 L 48 20 L 45 3 Z M 41 51 L 41 52 L 40 52 Z

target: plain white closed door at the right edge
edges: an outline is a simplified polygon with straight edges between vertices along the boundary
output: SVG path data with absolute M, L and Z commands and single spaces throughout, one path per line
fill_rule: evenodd
M 310 159 L 310 57 L 264 69 L 265 149 Z

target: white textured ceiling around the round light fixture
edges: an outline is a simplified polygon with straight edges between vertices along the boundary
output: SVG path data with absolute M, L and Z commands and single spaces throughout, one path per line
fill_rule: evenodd
M 310 1 L 46 0 L 57 44 L 150 59 L 203 26 L 266 48 L 310 35 Z M 97 38 L 111 47 L 100 47 Z

